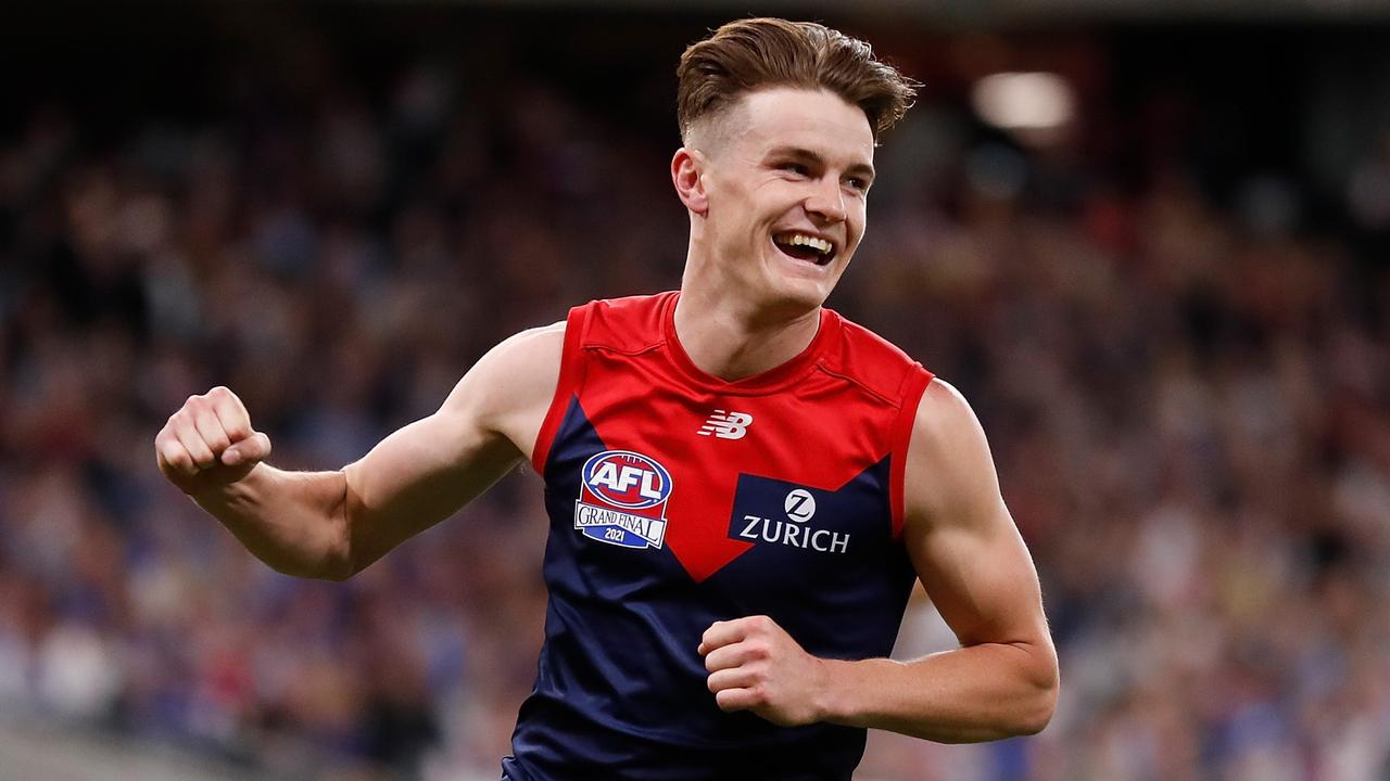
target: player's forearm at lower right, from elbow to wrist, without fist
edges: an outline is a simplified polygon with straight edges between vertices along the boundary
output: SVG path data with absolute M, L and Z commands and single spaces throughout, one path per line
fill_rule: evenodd
M 1056 705 L 1052 648 L 981 643 L 913 661 L 826 660 L 824 721 L 942 743 L 1036 734 Z

